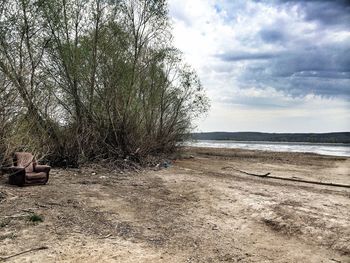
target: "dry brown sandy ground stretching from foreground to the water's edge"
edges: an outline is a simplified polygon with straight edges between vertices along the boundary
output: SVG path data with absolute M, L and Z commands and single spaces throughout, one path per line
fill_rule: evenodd
M 234 170 L 350 185 L 350 158 L 184 155 L 194 158 L 159 171 L 54 169 L 46 186 L 2 176 L 0 258 L 46 246 L 6 262 L 350 262 L 349 188 Z M 44 221 L 29 222 L 31 212 Z

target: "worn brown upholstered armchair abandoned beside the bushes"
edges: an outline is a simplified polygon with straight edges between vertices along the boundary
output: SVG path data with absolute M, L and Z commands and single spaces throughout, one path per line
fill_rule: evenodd
M 16 152 L 13 166 L 3 167 L 3 173 L 9 174 L 9 183 L 18 186 L 46 184 L 51 167 L 38 165 L 29 152 Z

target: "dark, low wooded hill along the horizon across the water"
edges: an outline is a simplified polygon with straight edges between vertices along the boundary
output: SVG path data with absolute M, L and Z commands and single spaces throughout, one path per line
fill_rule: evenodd
M 350 132 L 331 132 L 331 133 L 202 132 L 202 133 L 192 133 L 191 138 L 195 140 L 350 143 Z

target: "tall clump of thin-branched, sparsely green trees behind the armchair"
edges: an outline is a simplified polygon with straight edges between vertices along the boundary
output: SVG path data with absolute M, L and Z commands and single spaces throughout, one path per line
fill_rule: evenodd
M 28 149 L 57 165 L 142 162 L 173 151 L 208 110 L 172 46 L 165 0 L 6 0 L 0 23 L 4 156 Z

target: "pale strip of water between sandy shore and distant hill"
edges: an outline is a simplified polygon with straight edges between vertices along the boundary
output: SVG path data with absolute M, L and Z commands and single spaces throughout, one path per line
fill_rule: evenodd
M 341 143 L 299 143 L 299 142 L 238 142 L 219 140 L 188 141 L 185 146 L 238 148 L 276 152 L 308 152 L 333 156 L 349 156 L 350 144 Z

